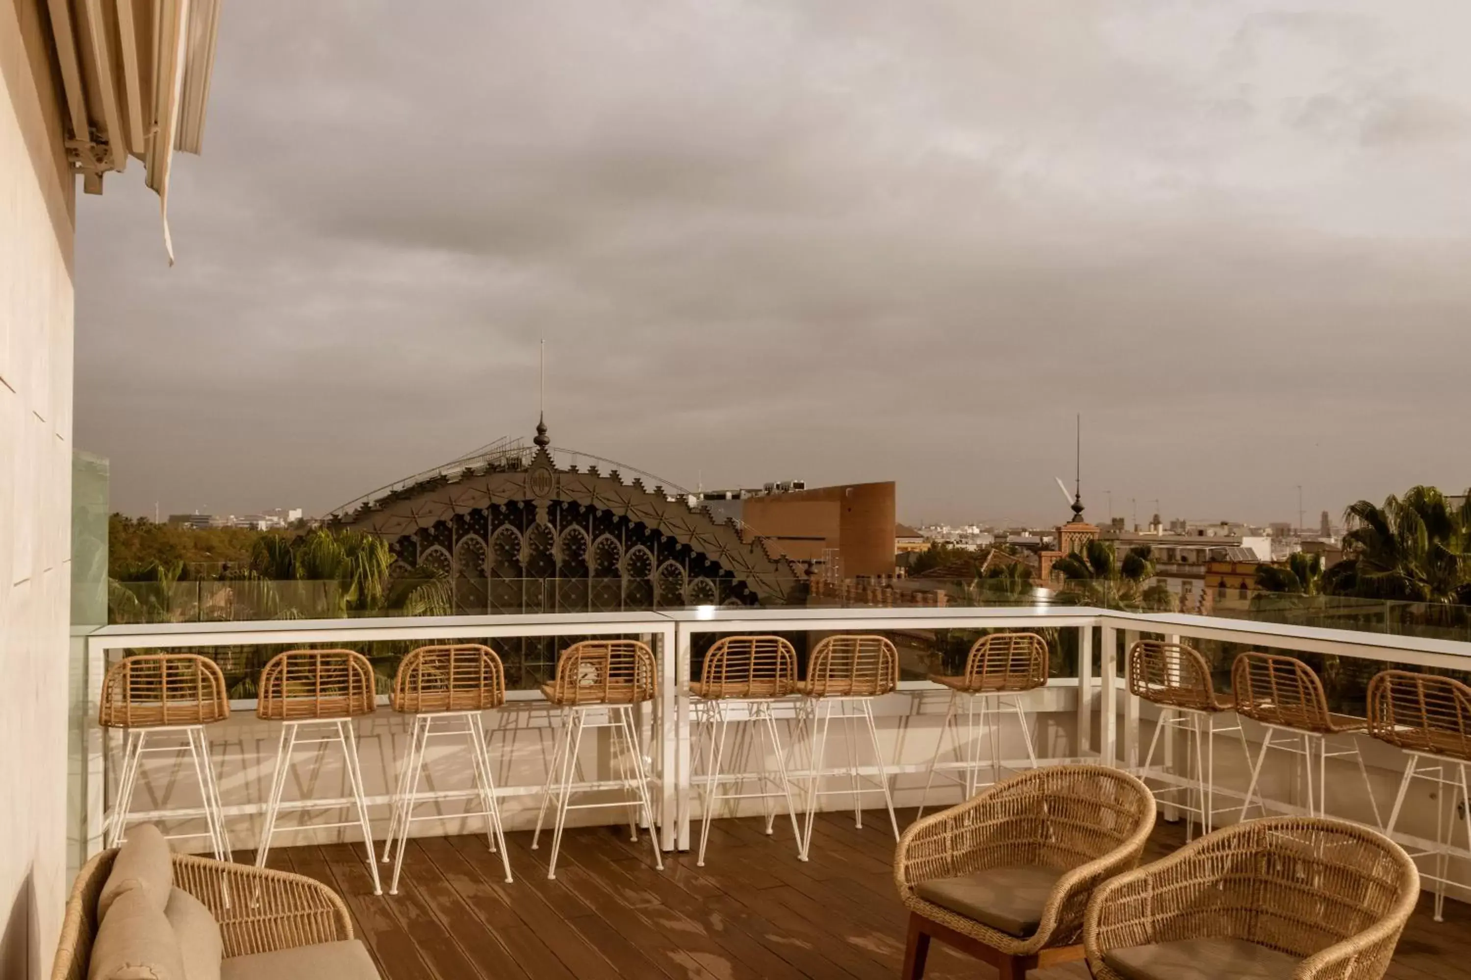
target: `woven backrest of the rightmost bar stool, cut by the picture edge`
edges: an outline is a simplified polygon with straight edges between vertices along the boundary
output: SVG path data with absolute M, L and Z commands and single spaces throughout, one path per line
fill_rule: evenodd
M 1370 682 L 1370 735 L 1412 752 L 1471 761 L 1471 686 L 1408 670 Z

